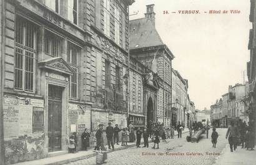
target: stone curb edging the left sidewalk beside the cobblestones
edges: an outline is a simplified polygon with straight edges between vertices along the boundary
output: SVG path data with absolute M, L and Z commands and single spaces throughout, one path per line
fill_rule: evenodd
M 188 131 L 184 131 L 182 132 L 182 134 L 184 133 L 189 133 L 189 130 Z M 174 136 L 178 136 L 178 134 L 175 134 Z M 149 143 L 152 143 L 152 140 L 149 141 Z M 144 144 L 144 142 L 141 142 L 140 144 Z M 127 148 L 132 148 L 136 146 L 136 143 L 134 144 L 130 144 L 129 146 L 124 146 L 124 147 L 121 147 L 121 148 L 116 148 L 116 149 L 112 149 L 112 150 L 109 150 L 109 153 L 112 153 L 112 152 L 115 152 L 115 151 L 119 151 L 119 150 L 122 150 L 122 149 L 127 149 Z M 67 164 L 67 163 L 72 163 L 74 161 L 80 161 L 82 159 L 88 159 L 88 158 L 92 158 L 96 156 L 96 153 L 92 153 L 92 154 L 87 154 L 85 156 L 79 156 L 77 158 L 71 158 L 71 159 L 67 159 L 67 160 L 62 160 L 62 161 L 57 161 L 57 162 L 54 162 L 54 163 L 49 163 L 49 164 L 44 164 L 44 165 L 61 165 L 61 164 Z

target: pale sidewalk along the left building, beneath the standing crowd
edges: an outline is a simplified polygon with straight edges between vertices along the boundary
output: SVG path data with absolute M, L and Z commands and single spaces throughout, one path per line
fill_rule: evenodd
M 189 129 L 185 128 L 184 131 L 182 131 L 182 134 L 188 133 Z M 177 136 L 177 131 L 175 131 L 175 136 Z M 151 140 L 149 140 L 149 143 L 152 143 Z M 141 139 L 140 146 L 144 144 L 143 138 Z M 127 149 L 136 146 L 136 142 L 128 143 L 128 146 L 121 146 L 121 142 L 119 145 L 115 145 L 115 149 L 109 149 L 109 153 L 114 151 L 119 151 L 121 149 Z M 62 154 L 59 156 L 53 156 L 49 158 L 43 158 L 43 159 L 36 159 L 34 161 L 25 161 L 22 163 L 16 163 L 13 165 L 59 165 L 59 164 L 67 164 L 74 161 L 79 161 L 81 159 L 87 159 L 91 158 L 93 156 L 96 156 L 96 153 L 93 152 L 93 148 L 88 151 L 79 151 L 79 153 L 69 153 L 69 154 Z

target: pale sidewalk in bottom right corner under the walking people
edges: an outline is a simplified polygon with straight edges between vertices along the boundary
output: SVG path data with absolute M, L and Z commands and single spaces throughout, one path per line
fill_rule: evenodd
M 214 165 L 252 165 L 256 164 L 256 150 L 241 149 L 230 152 L 229 144 L 223 149 Z

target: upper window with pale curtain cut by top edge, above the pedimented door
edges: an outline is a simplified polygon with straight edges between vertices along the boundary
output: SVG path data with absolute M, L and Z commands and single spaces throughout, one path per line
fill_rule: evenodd
M 67 0 L 67 19 L 77 25 L 77 1 Z

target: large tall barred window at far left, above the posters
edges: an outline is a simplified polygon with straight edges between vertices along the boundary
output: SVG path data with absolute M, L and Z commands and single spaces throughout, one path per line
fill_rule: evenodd
M 16 90 L 34 91 L 36 63 L 36 32 L 32 22 L 16 17 L 15 79 Z

